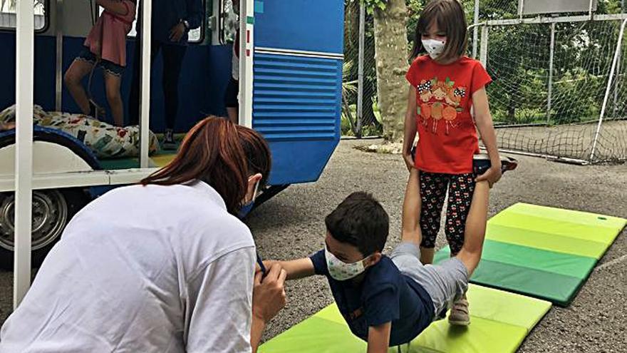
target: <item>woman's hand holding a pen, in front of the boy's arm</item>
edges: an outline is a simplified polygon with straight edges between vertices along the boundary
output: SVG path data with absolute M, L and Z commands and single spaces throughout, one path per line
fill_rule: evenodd
M 257 272 L 252 292 L 252 314 L 261 322 L 269 322 L 285 306 L 285 279 L 287 272 L 274 263 L 266 277 Z

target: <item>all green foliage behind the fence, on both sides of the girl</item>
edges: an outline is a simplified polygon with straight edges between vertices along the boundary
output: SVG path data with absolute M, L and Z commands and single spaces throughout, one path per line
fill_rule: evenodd
M 368 130 L 380 134 L 380 113 L 376 104 L 376 71 L 371 64 L 374 59 L 374 41 L 372 14 L 374 9 L 385 9 L 388 0 L 345 0 L 354 8 L 360 2 L 368 9 L 366 22 L 366 71 L 365 100 L 372 99 L 372 106 L 364 104 L 364 114 L 371 116 L 371 122 L 363 126 L 364 135 Z M 415 29 L 421 11 L 429 0 L 405 0 L 408 8 L 407 38 L 408 48 L 413 46 Z M 467 23 L 474 21 L 474 0 L 462 0 L 467 14 Z M 490 19 L 518 18 L 518 1 L 480 0 L 480 21 Z M 354 11 L 354 10 L 353 10 Z M 621 13 L 621 0 L 599 0 L 596 14 Z M 353 16 L 356 18 L 356 16 Z M 351 17 L 352 18 L 352 17 Z M 355 24 L 356 25 L 356 24 Z M 347 29 L 351 21 L 346 22 Z M 606 84 L 606 72 L 611 61 L 616 42 L 608 36 L 616 36 L 618 29 L 607 30 L 584 23 L 558 24 L 558 45 L 555 48 L 556 69 L 554 70 L 554 101 L 551 106 L 551 119 L 547 121 L 548 57 L 550 26 L 517 25 L 508 26 L 507 30 L 493 27 L 489 36 L 491 65 L 488 68 L 495 83 L 488 87 L 488 96 L 494 121 L 497 123 L 550 123 L 564 124 L 589 121 L 598 116 L 601 109 L 602 94 Z M 589 26 L 589 27 L 585 27 Z M 356 26 L 351 31 L 356 32 Z M 568 39 L 564 39 L 564 36 Z M 472 32 L 469 33 L 472 45 Z M 352 61 L 346 69 L 345 82 L 351 83 L 357 78 L 357 36 L 346 37 L 345 58 Z M 533 44 L 533 45 L 532 45 Z M 546 44 L 546 46 L 544 45 Z M 472 48 L 469 48 L 469 51 Z M 499 65 L 494 65 L 497 59 Z M 350 85 L 349 85 L 350 86 Z M 586 92 L 588 94 L 586 94 Z M 601 95 L 601 96 L 600 96 Z M 356 93 L 346 96 L 351 106 L 353 118 L 356 117 Z M 627 101 L 623 93 L 618 101 Z M 627 106 L 627 103 L 624 105 Z M 622 106 L 621 106 L 622 107 Z M 622 108 L 621 108 L 622 109 Z M 627 108 L 626 108 L 627 109 Z M 343 117 L 342 131 L 351 133 L 346 117 Z

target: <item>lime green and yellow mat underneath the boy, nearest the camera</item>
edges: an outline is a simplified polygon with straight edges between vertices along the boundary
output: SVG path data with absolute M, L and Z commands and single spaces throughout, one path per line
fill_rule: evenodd
M 434 322 L 409 345 L 410 353 L 515 352 L 524 337 L 551 308 L 550 302 L 470 285 L 471 324 L 451 327 L 447 320 Z M 336 305 L 291 327 L 259 348 L 266 353 L 366 352 L 366 342 L 355 337 Z M 397 352 L 390 348 L 390 353 Z

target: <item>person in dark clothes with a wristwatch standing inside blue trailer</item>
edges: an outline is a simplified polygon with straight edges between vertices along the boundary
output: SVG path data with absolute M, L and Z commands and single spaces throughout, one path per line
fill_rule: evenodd
M 139 7 L 133 83 L 129 97 L 130 125 L 139 123 L 141 1 Z M 152 0 L 151 60 L 154 63 L 157 54 L 162 53 L 162 89 L 165 103 L 165 138 L 162 148 L 167 150 L 176 148 L 174 129 L 179 106 L 179 77 L 189 42 L 188 34 L 191 29 L 200 27 L 203 14 L 202 0 Z

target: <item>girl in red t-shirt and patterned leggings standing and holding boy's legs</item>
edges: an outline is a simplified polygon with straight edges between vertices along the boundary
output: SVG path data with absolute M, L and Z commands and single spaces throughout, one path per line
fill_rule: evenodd
M 479 61 L 465 56 L 466 49 L 467 25 L 461 4 L 457 0 L 430 1 L 418 20 L 413 63 L 406 75 L 410 94 L 403 143 L 408 169 L 420 170 L 420 260 L 425 264 L 433 261 L 447 191 L 445 233 L 455 256 L 464 244 L 475 183 L 487 180 L 492 186 L 502 173 L 485 91 L 492 79 Z M 420 55 L 425 51 L 427 55 Z M 473 173 L 473 156 L 479 153 L 477 129 L 491 162 L 481 175 Z M 470 324 L 465 297 L 452 307 L 449 321 Z

